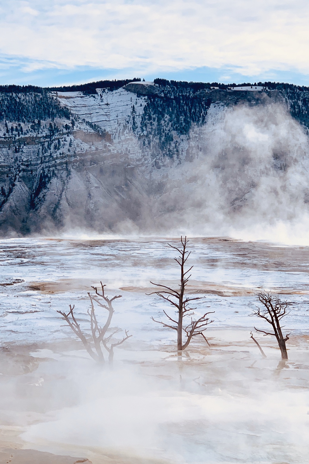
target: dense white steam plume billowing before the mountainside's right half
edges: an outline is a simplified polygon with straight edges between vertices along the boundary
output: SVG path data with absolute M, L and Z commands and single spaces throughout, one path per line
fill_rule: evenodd
M 152 173 L 160 193 L 116 230 L 307 243 L 309 141 L 283 105 L 214 109 L 190 141 L 193 161 Z

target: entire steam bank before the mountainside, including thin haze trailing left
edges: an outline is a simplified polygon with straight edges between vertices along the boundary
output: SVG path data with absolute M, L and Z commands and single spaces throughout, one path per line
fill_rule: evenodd
M 68 178 L 51 180 L 27 220 L 32 231 L 42 234 L 44 224 L 46 234 L 64 237 L 187 234 L 306 245 L 306 132 L 282 104 L 214 106 L 207 123 L 191 129 L 179 162 L 165 158 L 150 168 L 151 155 L 139 164 L 136 155 L 116 154 L 72 168 Z M 138 139 L 130 143 L 139 153 Z

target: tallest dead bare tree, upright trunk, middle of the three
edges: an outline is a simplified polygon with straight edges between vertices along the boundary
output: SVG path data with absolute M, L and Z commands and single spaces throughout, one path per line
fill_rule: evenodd
M 189 298 L 184 295 L 185 288 L 188 284 L 189 278 L 191 277 L 191 274 L 190 275 L 188 274 L 193 268 L 193 266 L 191 266 L 187 271 L 184 270 L 184 265 L 187 259 L 189 258 L 191 251 L 186 250 L 186 247 L 189 241 L 187 237 L 185 237 L 184 240 L 183 240 L 183 237 L 181 237 L 180 240 L 182 244 L 180 248 L 177 248 L 176 246 L 168 244 L 171 248 L 173 248 L 174 250 L 177 250 L 180 254 L 178 258 L 174 258 L 177 264 L 179 264 L 180 270 L 181 270 L 179 290 L 173 290 L 172 288 L 167 287 L 163 284 L 154 284 L 153 282 L 151 282 L 151 284 L 156 285 L 157 287 L 160 287 L 160 290 L 154 291 L 148 294 L 148 295 L 156 294 L 160 296 L 161 298 L 163 298 L 165 301 L 169 302 L 174 308 L 176 308 L 176 311 L 175 311 L 176 317 L 174 318 L 170 317 L 165 311 L 163 311 L 165 316 L 169 319 L 169 321 L 176 325 L 172 325 L 171 323 L 166 323 L 162 321 L 156 321 L 153 317 L 151 319 L 154 322 L 158 322 L 159 324 L 162 324 L 164 327 L 177 331 L 177 350 L 178 351 L 182 351 L 185 348 L 187 348 L 192 337 L 195 337 L 196 335 L 202 335 L 204 340 L 208 343 L 204 335 L 204 330 L 207 329 L 208 324 L 211 324 L 211 322 L 214 322 L 213 320 L 209 320 L 209 317 L 207 317 L 208 314 L 212 314 L 214 313 L 214 311 L 208 311 L 207 313 L 203 314 L 203 316 L 197 320 L 194 320 L 192 318 L 193 314 L 191 311 L 193 311 L 196 308 L 189 307 L 189 303 L 194 300 L 200 300 L 201 297 L 196 296 L 194 298 Z M 189 322 L 188 325 L 183 325 L 183 318 L 185 316 L 189 316 L 191 319 L 191 322 Z M 183 332 L 185 333 L 187 337 L 187 340 L 185 341 L 185 343 L 183 343 Z

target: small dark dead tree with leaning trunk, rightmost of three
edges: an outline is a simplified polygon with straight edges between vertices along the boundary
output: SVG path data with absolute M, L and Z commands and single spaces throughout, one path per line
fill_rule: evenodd
M 257 329 L 256 327 L 254 327 L 254 329 L 257 332 L 262 332 L 264 336 L 275 336 L 281 351 L 281 359 L 286 360 L 288 359 L 288 354 L 286 351 L 285 342 L 289 340 L 290 334 L 285 335 L 285 337 L 282 335 L 283 327 L 281 327 L 280 321 L 284 316 L 287 316 L 290 313 L 287 308 L 291 305 L 291 303 L 282 301 L 277 296 L 272 296 L 268 292 L 259 292 L 257 296 L 263 307 L 259 308 L 258 306 L 257 310 L 253 312 L 252 316 L 261 317 L 266 322 L 268 322 L 271 325 L 274 333 L 266 332 L 265 330 Z

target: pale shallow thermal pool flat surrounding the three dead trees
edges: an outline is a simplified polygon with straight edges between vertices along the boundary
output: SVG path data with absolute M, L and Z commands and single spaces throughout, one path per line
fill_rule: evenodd
M 19 376 L 2 373 L 2 423 L 20 427 L 24 447 L 93 463 L 309 462 L 309 247 L 192 238 L 188 291 L 202 297 L 195 313 L 214 311 L 214 322 L 210 347 L 196 338 L 180 361 L 174 331 L 151 319 L 164 320 L 168 306 L 146 295 L 150 281 L 178 283 L 167 242 L 178 243 L 0 241 L 1 345 L 44 360 Z M 113 370 L 98 371 L 57 310 L 75 304 L 88 331 L 87 292 L 100 281 L 109 296 L 122 295 L 113 326 L 132 338 L 115 349 Z M 254 325 L 263 328 L 250 316 L 261 289 L 293 303 L 283 368 L 271 337 L 257 335 L 266 360 L 250 340 Z

